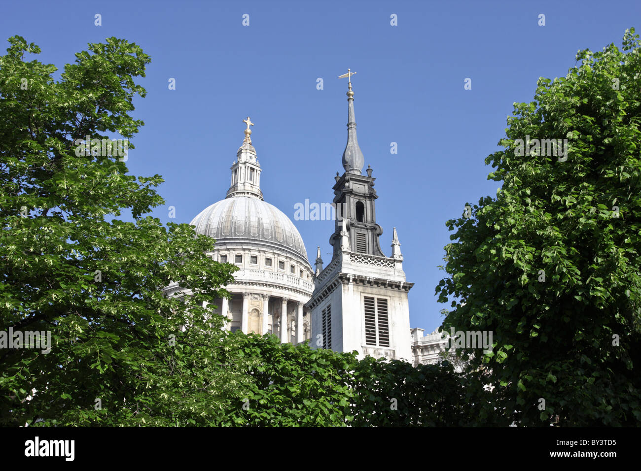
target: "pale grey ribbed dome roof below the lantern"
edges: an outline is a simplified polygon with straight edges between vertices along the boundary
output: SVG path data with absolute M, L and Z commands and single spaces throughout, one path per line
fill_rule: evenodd
M 192 222 L 196 232 L 225 243 L 264 244 L 302 257 L 303 238 L 283 211 L 253 196 L 232 196 L 205 208 Z

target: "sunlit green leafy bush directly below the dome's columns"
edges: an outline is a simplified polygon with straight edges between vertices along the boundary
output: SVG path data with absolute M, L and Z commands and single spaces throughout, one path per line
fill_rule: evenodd
M 251 377 L 217 425 L 338 427 L 353 420 L 356 352 L 280 343 L 275 335 L 235 333 L 229 363 Z M 243 363 L 242 359 L 247 361 Z

